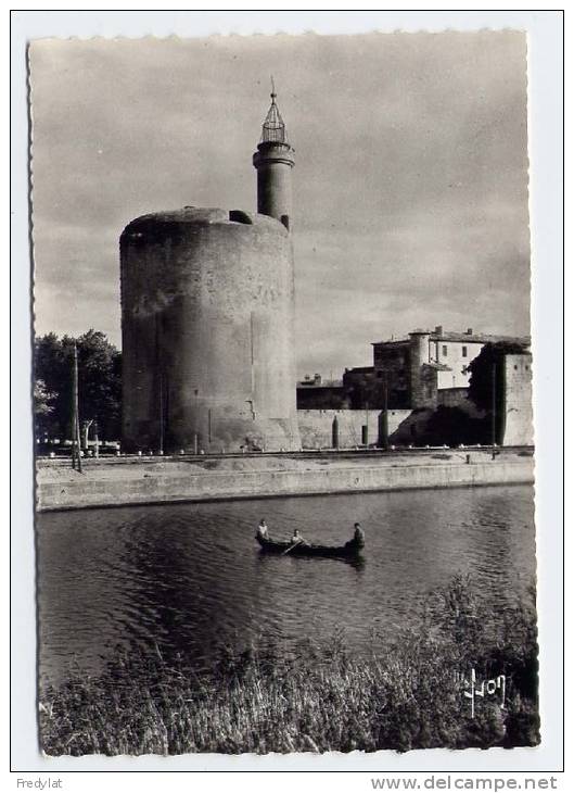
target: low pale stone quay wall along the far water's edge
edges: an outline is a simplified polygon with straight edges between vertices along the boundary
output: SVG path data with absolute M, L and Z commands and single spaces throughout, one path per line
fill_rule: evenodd
M 467 462 L 467 460 L 469 462 Z M 486 452 L 434 456 L 394 454 L 372 460 L 305 460 L 265 457 L 221 461 L 202 468 L 177 460 L 103 464 L 84 474 L 41 464 L 37 477 L 39 511 L 69 509 L 178 501 L 259 499 L 282 495 L 353 493 L 419 488 L 513 484 L 534 481 L 532 456 Z

